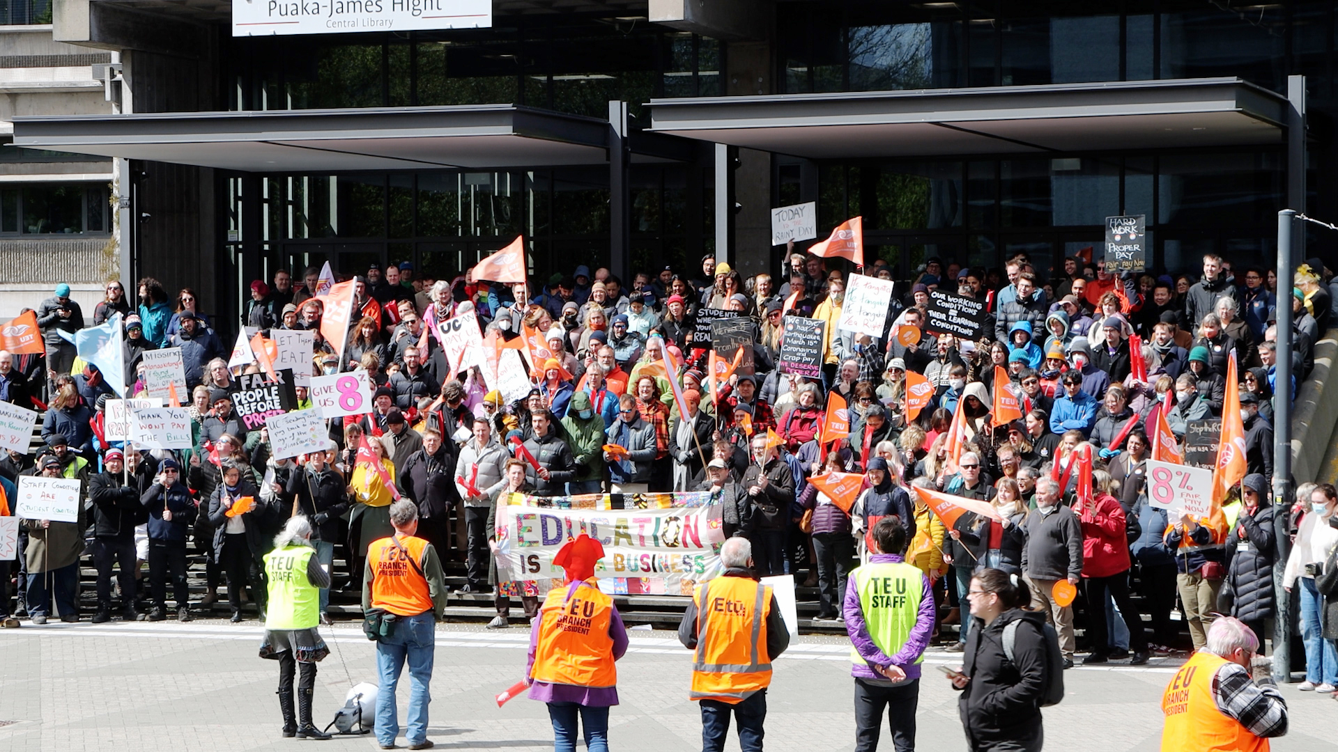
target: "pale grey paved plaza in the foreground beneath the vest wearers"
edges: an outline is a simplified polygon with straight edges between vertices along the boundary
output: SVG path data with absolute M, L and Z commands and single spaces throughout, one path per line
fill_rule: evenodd
M 324 725 L 359 681 L 376 681 L 373 646 L 355 622 L 322 628 L 332 653 L 320 668 L 316 721 Z M 292 749 L 274 698 L 277 662 L 256 657 L 257 622 L 24 625 L 0 633 L 0 751 L 174 752 Z M 689 653 L 673 633 L 633 630 L 618 662 L 622 704 L 610 716 L 610 747 L 636 752 L 700 749 L 701 723 L 688 701 Z M 543 751 L 553 733 L 542 704 L 524 697 L 498 708 L 494 696 L 524 670 L 529 633 L 438 628 L 428 737 L 440 749 Z M 848 642 L 804 636 L 775 664 L 768 697 L 768 751 L 854 747 Z M 341 661 L 343 657 L 343 661 Z M 918 748 L 965 749 L 955 693 L 934 669 L 958 665 L 938 649 L 926 656 Z M 1159 701 L 1172 666 L 1077 668 L 1065 674 L 1064 704 L 1045 711 L 1048 748 L 1084 752 L 1159 748 Z M 347 665 L 347 670 L 345 670 Z M 401 725 L 407 697 L 401 682 Z M 1284 688 L 1291 733 L 1283 752 L 1333 749 L 1338 701 Z M 1330 741 L 1323 741 L 1329 739 Z M 399 744 L 404 745 L 403 736 Z M 892 749 L 884 728 L 884 749 Z M 371 736 L 345 736 L 326 752 L 376 749 Z M 728 749 L 739 749 L 731 739 Z

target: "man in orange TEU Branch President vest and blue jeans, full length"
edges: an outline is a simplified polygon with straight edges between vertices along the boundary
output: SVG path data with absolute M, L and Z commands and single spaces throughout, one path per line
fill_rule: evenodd
M 409 749 L 427 749 L 432 747 L 427 739 L 428 682 L 432 681 L 436 620 L 446 607 L 446 582 L 436 550 L 413 535 L 417 533 L 417 504 L 408 499 L 391 504 L 391 525 L 395 535 L 372 541 L 363 571 L 363 612 L 381 609 L 388 614 L 385 621 L 391 622 L 376 640 L 380 672 L 376 741 L 381 749 L 395 748 L 395 737 L 400 733 L 395 686 L 408 660 L 409 711 L 404 736 Z

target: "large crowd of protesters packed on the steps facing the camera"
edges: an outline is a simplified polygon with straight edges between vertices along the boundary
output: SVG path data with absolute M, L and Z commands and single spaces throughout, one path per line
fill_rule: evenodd
M 313 373 L 364 371 L 373 384 L 369 413 L 332 420 L 328 451 L 297 459 L 270 458 L 268 431 L 248 431 L 234 415 L 229 385 L 240 371 L 260 368 L 229 368 L 226 344 L 237 332 L 201 312 L 193 290 L 169 296 L 153 278 L 134 290 L 112 281 L 88 322 L 67 285 L 40 305 L 47 352 L 0 352 L 0 400 L 44 411 L 43 448 L 0 460 L 0 486 L 13 499 L 19 475 L 78 478 L 87 503 L 75 523 L 24 521 L 17 566 L 5 573 L 0 562 L 5 626 L 24 614 L 43 624 L 52 605 L 63 621 L 78 621 L 84 554 L 98 570 L 95 622 L 116 612 L 167 618 L 169 595 L 177 618 L 190 620 L 191 551 L 205 559 L 197 602 L 214 603 L 226 585 L 231 618 L 241 621 L 248 599 L 264 612 L 262 557 L 294 514 L 310 519 L 322 563 L 336 546 L 347 551 L 348 566 L 333 573 L 330 587 L 356 593 L 368 543 L 392 530 L 397 491 L 419 507 L 417 535 L 463 565 L 460 590 L 492 594 L 490 626 L 506 628 L 511 598 L 533 618 L 539 590 L 496 581 L 490 538 L 499 495 L 706 491 L 721 503 L 727 535 L 751 542 L 757 574 L 816 586 L 819 621 L 843 620 L 848 571 L 870 555 L 866 533 L 896 515 L 907 534 L 903 559 L 927 577 L 933 634 L 949 650 L 966 645 L 966 595 L 973 574 L 987 567 L 1026 582 L 1030 606 L 1058 632 L 1065 665 L 1078 652 L 1086 664 L 1137 665 L 1179 645 L 1177 607 L 1195 649 L 1216 613 L 1239 617 L 1259 645 L 1271 640 L 1274 515 L 1286 515 L 1279 527 L 1295 546 L 1284 585 L 1301 598 L 1307 658 L 1302 689 L 1338 684 L 1335 634 L 1323 618 L 1338 598 L 1330 605 L 1317 585 L 1338 541 L 1330 525 L 1338 523 L 1338 494 L 1329 484 L 1301 488 L 1291 508 L 1270 499 L 1274 403 L 1294 397 L 1317 339 L 1335 321 L 1335 296 L 1317 261 L 1279 293 L 1271 272 L 1232 269 L 1216 256 L 1204 257 L 1193 277 L 1115 274 L 1082 258 L 1066 258 L 1054 277 L 1040 276 L 1025 256 L 1002 270 L 930 258 L 904 293 L 898 286 L 882 336 L 836 326 L 848 274 L 892 277 L 880 260 L 850 270 L 793 253 L 780 274 L 747 280 L 713 257 L 696 270 L 665 266 L 630 281 L 587 266 L 543 284 L 496 284 L 470 272 L 438 280 L 416 276 L 408 262 L 345 272 L 357 274 L 356 314 L 343 347 L 321 332 L 322 298 L 313 294 L 320 269 L 250 284 L 246 326 L 312 331 Z M 926 329 L 935 289 L 985 304 L 989 321 L 978 339 Z M 1291 384 L 1275 377 L 1279 296 L 1294 312 L 1293 349 L 1280 353 L 1293 359 Z M 709 375 L 712 344 L 696 331 L 702 309 L 732 310 L 753 325 L 749 357 L 740 361 L 747 365 L 720 383 Z M 533 363 L 523 399 L 503 399 L 476 368 L 451 371 L 435 324 L 470 310 L 484 333 L 507 340 L 533 331 L 546 343 L 551 357 Z M 118 395 L 58 331 L 116 313 L 126 396 L 143 391 L 145 352 L 181 348 L 193 450 L 104 440 L 106 400 Z M 777 367 L 787 316 L 827 321 L 822 377 Z M 915 336 L 896 336 L 904 331 Z M 1231 359 L 1240 375 L 1234 384 L 1226 381 Z M 909 372 L 933 388 L 914 416 Z M 1021 419 L 993 420 L 999 389 L 1016 393 Z M 309 407 L 305 389 L 297 397 Z M 822 432 L 835 397 L 848 405 L 848 438 L 828 443 Z M 1168 519 L 1145 492 L 1149 436 L 1164 421 L 1183 443 L 1192 421 L 1220 417 L 1235 403 L 1247 475 L 1220 511 Z M 356 460 L 364 440 L 395 490 Z M 610 454 L 610 444 L 621 451 Z M 1085 471 L 1073 472 L 1081 456 L 1092 458 L 1089 491 Z M 808 482 L 827 471 L 867 475 L 848 511 Z M 945 526 L 917 486 L 993 504 L 998 519 L 963 514 Z M 248 508 L 244 498 L 253 499 Z M 1080 586 L 1076 603 L 1052 597 L 1062 581 Z M 328 602 L 326 589 L 322 617 Z

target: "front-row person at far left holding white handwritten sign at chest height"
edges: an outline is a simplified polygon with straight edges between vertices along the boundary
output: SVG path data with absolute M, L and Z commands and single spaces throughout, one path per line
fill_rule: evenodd
M 60 478 L 60 460 L 56 455 L 43 455 L 37 460 L 39 478 Z M 28 589 L 24 603 L 32 624 L 47 624 L 51 606 L 55 602 L 60 621 L 79 621 L 79 557 L 83 555 L 83 531 L 88 527 L 84 512 L 86 484 L 79 484 L 78 521 L 58 522 L 54 519 L 23 519 L 28 531 Z M 31 491 L 29 491 L 31 492 Z M 19 487 L 23 500 L 24 490 Z

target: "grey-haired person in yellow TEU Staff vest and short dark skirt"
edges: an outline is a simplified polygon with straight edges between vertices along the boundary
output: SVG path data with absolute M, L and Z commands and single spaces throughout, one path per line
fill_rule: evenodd
M 274 537 L 274 550 L 265 554 L 265 581 L 269 609 L 260 657 L 278 661 L 278 707 L 284 713 L 284 736 L 329 739 L 312 724 L 312 693 L 316 664 L 329 654 L 316 626 L 320 622 L 321 593 L 330 586 L 329 569 L 320 563 L 312 546 L 312 523 L 306 515 L 290 516 Z M 293 713 L 293 674 L 297 682 L 297 713 Z

